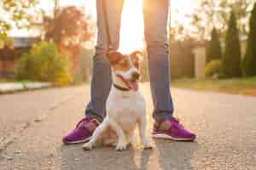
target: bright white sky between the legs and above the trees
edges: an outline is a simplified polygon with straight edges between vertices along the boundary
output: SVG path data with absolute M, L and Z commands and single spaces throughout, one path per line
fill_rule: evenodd
M 44 8 L 46 13 L 52 13 L 53 0 L 41 0 L 38 8 Z M 193 2 L 193 3 L 192 3 Z M 85 14 L 90 14 L 93 20 L 96 20 L 96 0 L 60 0 L 60 6 L 76 5 L 84 8 Z M 119 51 L 130 53 L 133 50 L 143 48 L 143 0 L 126 0 L 122 14 L 121 35 Z M 195 8 L 195 0 L 171 0 L 172 21 L 182 22 L 184 26 L 188 25 L 189 20 L 186 14 L 191 14 Z M 132 11 L 132 13 L 131 13 Z M 178 13 L 177 13 L 178 11 Z M 33 31 L 10 32 L 12 36 L 31 36 Z

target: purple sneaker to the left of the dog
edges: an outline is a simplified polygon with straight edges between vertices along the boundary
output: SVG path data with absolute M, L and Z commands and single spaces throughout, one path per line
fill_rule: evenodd
M 64 144 L 79 144 L 90 140 L 90 137 L 99 122 L 96 119 L 86 117 L 82 119 L 78 125 L 62 139 Z

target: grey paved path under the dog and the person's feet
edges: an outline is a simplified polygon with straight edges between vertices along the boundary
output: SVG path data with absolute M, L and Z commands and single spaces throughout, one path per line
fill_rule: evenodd
M 152 139 L 130 150 L 61 144 L 62 135 L 84 115 L 87 85 L 0 96 L 1 170 L 256 169 L 256 98 L 173 88 L 176 115 L 198 134 L 194 143 Z M 148 134 L 152 127 L 149 86 Z

